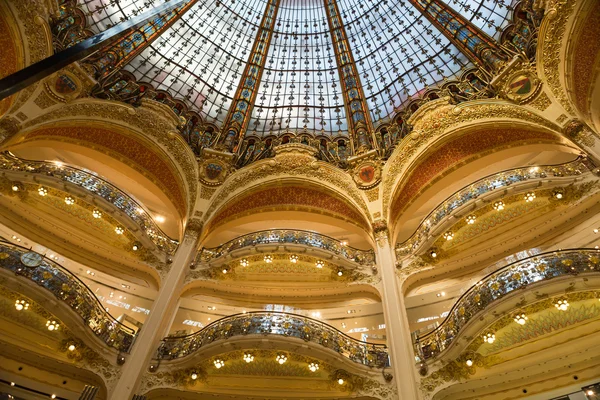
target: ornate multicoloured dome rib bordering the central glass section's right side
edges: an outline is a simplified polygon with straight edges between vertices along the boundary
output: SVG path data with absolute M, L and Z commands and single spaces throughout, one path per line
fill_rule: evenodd
M 329 32 L 331 32 L 333 51 L 340 74 L 342 93 L 344 94 L 352 154 L 366 153 L 377 146 L 377 139 L 375 138 L 369 107 L 367 107 L 360 82 L 360 75 L 356 69 L 354 56 L 350 50 L 350 43 L 336 1 L 325 0 L 325 11 L 327 12 Z

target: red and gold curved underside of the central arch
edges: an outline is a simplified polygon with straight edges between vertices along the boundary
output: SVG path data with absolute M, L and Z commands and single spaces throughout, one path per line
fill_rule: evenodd
M 206 224 L 205 237 L 227 222 L 264 209 L 319 213 L 345 220 L 370 233 L 368 217 L 347 196 L 316 182 L 307 185 L 297 178 L 273 181 L 250 187 L 215 210 Z

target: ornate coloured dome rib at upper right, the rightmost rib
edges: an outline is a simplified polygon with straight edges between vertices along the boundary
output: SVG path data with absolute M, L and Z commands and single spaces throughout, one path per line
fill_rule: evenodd
M 471 62 L 498 71 L 507 60 L 498 43 L 442 0 L 409 0 Z

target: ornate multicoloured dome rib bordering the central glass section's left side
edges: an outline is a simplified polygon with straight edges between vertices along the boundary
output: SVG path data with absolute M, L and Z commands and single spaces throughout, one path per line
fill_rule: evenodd
M 267 52 L 273 36 L 279 2 L 280 0 L 269 0 L 267 4 L 256 40 L 252 45 L 248 63 L 244 68 L 240 85 L 235 93 L 233 104 L 229 108 L 223 128 L 217 139 L 217 150 L 231 153 L 237 151 L 238 144 L 241 142 L 250 123 L 252 108 L 258 94 L 258 86 L 265 69 Z

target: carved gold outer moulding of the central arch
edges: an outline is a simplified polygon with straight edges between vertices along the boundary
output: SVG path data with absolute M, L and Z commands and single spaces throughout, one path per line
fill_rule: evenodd
M 233 199 L 274 183 L 323 188 L 354 208 L 361 214 L 361 219 L 370 222 L 364 194 L 356 187 L 351 176 L 301 151 L 278 153 L 272 159 L 258 161 L 234 172 L 212 197 L 205 221 L 213 218 Z

